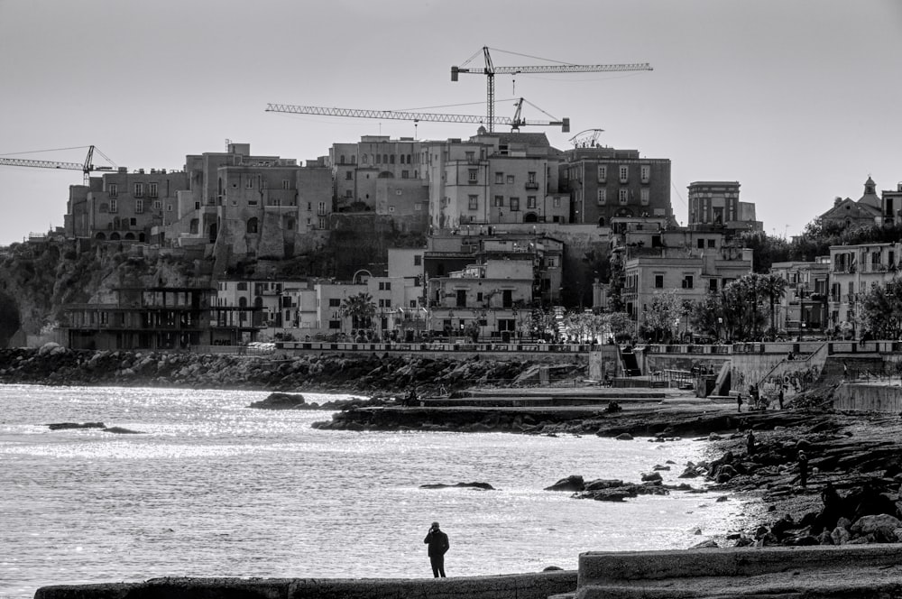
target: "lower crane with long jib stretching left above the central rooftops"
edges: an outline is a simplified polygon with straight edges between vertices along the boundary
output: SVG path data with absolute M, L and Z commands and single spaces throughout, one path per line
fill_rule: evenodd
M 519 131 L 520 127 L 524 125 L 559 126 L 561 128 L 561 131 L 563 131 L 564 133 L 570 131 L 570 119 L 566 117 L 560 120 L 555 119 L 552 121 L 536 121 L 532 119 L 527 120 L 525 118 L 522 118 L 520 116 L 520 113 L 524 102 L 529 104 L 529 106 L 537 108 L 543 113 L 545 112 L 528 100 L 524 100 L 522 97 L 517 100 L 517 111 L 513 115 L 513 118 L 509 118 L 507 116 L 492 116 L 492 120 L 488 122 L 486 117 L 477 115 L 443 115 L 439 113 L 417 113 L 400 110 L 327 108 L 325 106 L 295 106 L 291 104 L 267 104 L 266 112 L 293 113 L 296 115 L 350 116 L 354 118 L 394 119 L 400 121 L 413 121 L 414 123 L 419 123 L 419 121 L 431 121 L 435 123 L 484 123 L 489 125 L 489 131 L 494 130 L 492 124 L 509 125 L 511 127 L 511 131 Z M 545 114 L 548 115 L 548 113 Z M 554 117 L 552 116 L 552 118 Z

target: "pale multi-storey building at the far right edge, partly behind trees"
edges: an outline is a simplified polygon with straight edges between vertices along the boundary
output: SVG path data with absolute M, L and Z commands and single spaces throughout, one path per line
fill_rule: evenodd
M 861 332 L 861 298 L 874 285 L 885 285 L 902 267 L 902 243 L 831 245 L 829 325 L 833 333 Z

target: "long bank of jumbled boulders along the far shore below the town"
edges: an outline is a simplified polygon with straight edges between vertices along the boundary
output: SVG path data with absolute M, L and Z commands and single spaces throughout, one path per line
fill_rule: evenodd
M 529 360 L 417 355 L 289 357 L 153 351 L 73 351 L 56 344 L 0 350 L 0 382 L 256 389 L 322 392 L 428 393 L 521 381 Z M 584 375 L 584 364 L 574 365 Z

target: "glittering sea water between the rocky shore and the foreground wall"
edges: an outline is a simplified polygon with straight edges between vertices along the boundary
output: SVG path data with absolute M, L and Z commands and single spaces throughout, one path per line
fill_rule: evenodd
M 584 551 L 691 547 L 750 507 L 543 491 L 567 475 L 640 482 L 655 465 L 685 482 L 700 440 L 319 430 L 331 412 L 248 407 L 267 394 L 0 385 L 0 597 L 161 576 L 430 577 L 432 521 L 448 576 L 575 569 Z M 97 421 L 136 432 L 48 427 Z M 421 488 L 472 482 L 494 489 Z

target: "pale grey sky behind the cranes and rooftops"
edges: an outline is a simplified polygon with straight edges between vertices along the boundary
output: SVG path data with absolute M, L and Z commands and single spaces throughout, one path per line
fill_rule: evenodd
M 902 181 L 899 0 L 0 0 L 0 156 L 129 170 L 186 154 L 312 160 L 362 135 L 466 138 L 478 124 L 266 112 L 268 103 L 485 114 L 485 78 L 451 67 L 648 62 L 637 72 L 495 77 L 499 116 L 569 117 L 603 145 L 741 183 L 769 235 Z M 503 128 L 496 128 L 503 130 Z M 54 152 L 43 152 L 54 150 Z M 39 152 L 40 151 L 40 152 Z M 37 152 L 37 153 L 23 153 Z M 110 163 L 96 154 L 95 165 Z M 0 245 L 62 226 L 78 170 L 0 166 Z

